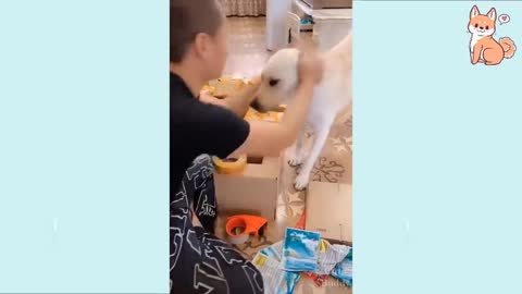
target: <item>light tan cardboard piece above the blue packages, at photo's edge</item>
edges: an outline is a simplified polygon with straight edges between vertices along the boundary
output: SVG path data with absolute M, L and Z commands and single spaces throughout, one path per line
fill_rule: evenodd
M 352 242 L 352 198 L 350 184 L 311 182 L 307 193 L 306 224 L 321 237 Z

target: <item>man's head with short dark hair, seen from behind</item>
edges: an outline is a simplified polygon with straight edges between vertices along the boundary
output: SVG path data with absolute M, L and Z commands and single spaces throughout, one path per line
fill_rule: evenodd
M 171 64 L 217 78 L 225 66 L 225 17 L 216 0 L 171 0 Z

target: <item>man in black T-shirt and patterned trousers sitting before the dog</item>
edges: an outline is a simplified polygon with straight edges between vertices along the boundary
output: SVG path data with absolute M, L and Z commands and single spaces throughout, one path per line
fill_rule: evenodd
M 295 102 L 281 123 L 247 122 L 243 117 L 260 78 L 225 100 L 199 95 L 208 81 L 221 76 L 226 60 L 220 3 L 171 0 L 170 14 L 171 293 L 263 293 L 256 267 L 213 235 L 217 212 L 210 156 L 276 156 L 291 145 L 322 78 L 322 60 L 314 52 L 301 54 Z M 194 215 L 203 228 L 192 224 Z

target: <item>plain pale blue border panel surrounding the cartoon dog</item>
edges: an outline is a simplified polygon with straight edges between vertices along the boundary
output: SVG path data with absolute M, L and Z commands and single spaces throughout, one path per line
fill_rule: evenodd
M 473 4 L 519 51 L 472 65 Z M 522 5 L 356 1 L 353 293 L 519 293 Z M 518 76 L 518 77 L 517 77 Z

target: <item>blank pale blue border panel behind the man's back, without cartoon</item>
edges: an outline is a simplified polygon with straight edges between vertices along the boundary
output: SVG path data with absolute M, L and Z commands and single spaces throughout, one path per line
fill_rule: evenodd
M 0 293 L 167 293 L 167 1 L 0 1 Z

